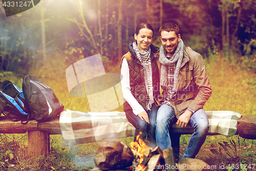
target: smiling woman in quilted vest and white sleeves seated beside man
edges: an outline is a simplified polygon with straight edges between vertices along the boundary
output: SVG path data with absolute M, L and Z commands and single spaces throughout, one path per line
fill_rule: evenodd
M 127 119 L 136 128 L 134 141 L 139 132 L 141 139 L 156 146 L 156 114 L 158 107 L 154 99 L 160 94 L 159 70 L 154 55 L 159 48 L 154 46 L 154 29 L 149 23 L 140 23 L 135 31 L 135 41 L 130 43 L 129 52 L 121 59 L 123 110 Z M 153 90 L 154 87 L 154 90 Z

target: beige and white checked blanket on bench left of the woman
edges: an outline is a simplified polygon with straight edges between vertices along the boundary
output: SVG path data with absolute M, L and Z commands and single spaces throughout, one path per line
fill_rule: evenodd
M 124 112 L 79 112 L 67 109 L 60 113 L 59 125 L 68 145 L 135 134 L 134 126 Z

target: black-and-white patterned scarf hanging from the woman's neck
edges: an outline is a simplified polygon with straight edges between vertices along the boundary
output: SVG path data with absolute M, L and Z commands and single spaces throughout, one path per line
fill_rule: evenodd
M 150 110 L 152 107 L 152 103 L 154 103 L 153 98 L 153 80 L 152 80 L 152 67 L 151 67 L 151 48 L 147 47 L 143 52 L 139 50 L 139 47 L 137 46 L 136 42 L 133 42 L 133 49 L 136 52 L 136 56 L 138 60 L 140 61 L 141 65 L 144 68 L 144 71 L 146 73 L 146 79 L 145 86 L 146 86 L 146 92 L 148 95 L 146 95 L 146 110 Z

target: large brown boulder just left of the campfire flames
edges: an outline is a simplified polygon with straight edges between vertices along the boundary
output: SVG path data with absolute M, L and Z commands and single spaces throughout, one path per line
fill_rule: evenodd
M 133 160 L 132 150 L 120 141 L 101 142 L 94 157 L 96 167 L 101 170 L 126 168 Z

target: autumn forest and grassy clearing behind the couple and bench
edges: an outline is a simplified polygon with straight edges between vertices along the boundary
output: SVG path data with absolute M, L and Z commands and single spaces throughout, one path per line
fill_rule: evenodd
M 120 73 L 139 23 L 153 26 L 160 47 L 160 26 L 175 22 L 205 61 L 213 93 L 204 109 L 256 115 L 255 14 L 255 0 L 41 0 L 6 17 L 0 2 L 0 78 L 21 88 L 22 78 L 34 75 L 65 109 L 90 111 L 86 98 L 69 94 L 67 67 L 100 54 L 105 72 Z M 214 137 L 206 143 L 218 142 Z

